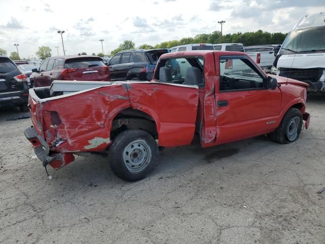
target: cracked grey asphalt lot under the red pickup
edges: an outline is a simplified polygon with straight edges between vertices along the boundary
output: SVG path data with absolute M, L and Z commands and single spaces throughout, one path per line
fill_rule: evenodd
M 165 149 L 133 183 L 100 156 L 48 167 L 49 179 L 24 138 L 30 119 L 0 110 L 0 243 L 325 243 L 324 108 L 308 97 L 294 143 Z

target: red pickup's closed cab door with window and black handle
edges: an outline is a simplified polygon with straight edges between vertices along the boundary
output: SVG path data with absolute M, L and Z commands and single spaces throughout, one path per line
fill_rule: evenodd
M 279 118 L 281 92 L 267 89 L 267 76 L 243 55 L 215 54 L 216 144 L 266 134 Z

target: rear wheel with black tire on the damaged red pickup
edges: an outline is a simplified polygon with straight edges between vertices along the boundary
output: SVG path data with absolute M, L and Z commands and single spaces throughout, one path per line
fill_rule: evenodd
M 133 149 L 132 146 L 134 144 L 137 144 L 136 146 L 139 147 L 134 147 L 135 149 Z M 140 156 L 142 156 L 141 160 L 139 160 Z M 130 161 L 139 160 L 140 165 L 132 168 L 137 162 L 129 162 L 128 159 Z M 113 173 L 126 181 L 137 181 L 145 178 L 155 168 L 157 161 L 157 143 L 148 132 L 143 130 L 126 130 L 121 132 L 114 138 L 108 150 L 108 162 Z M 131 172 L 138 170 L 137 167 L 139 167 L 139 171 Z

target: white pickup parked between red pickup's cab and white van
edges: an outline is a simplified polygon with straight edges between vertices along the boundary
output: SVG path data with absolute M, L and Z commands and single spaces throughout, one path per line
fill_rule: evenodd
M 259 66 L 266 72 L 270 72 L 274 59 L 279 52 L 281 45 L 259 45 L 244 47 L 246 53 L 259 55 Z

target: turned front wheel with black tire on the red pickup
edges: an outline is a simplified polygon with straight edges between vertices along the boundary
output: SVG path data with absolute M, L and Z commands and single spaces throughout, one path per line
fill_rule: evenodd
M 293 120 L 297 120 L 293 122 Z M 290 133 L 289 128 L 292 123 L 297 125 L 296 133 L 295 130 L 291 130 L 293 134 Z M 279 127 L 270 134 L 270 138 L 280 144 L 287 144 L 296 141 L 299 138 L 301 128 L 303 126 L 302 114 L 297 108 L 290 108 L 283 116 L 281 124 Z

